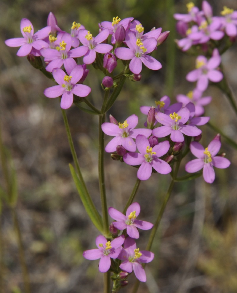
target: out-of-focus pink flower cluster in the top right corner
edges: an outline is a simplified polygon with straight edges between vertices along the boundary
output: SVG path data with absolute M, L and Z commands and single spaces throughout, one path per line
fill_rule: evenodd
M 183 51 L 187 51 L 192 46 L 201 45 L 207 51 L 214 42 L 219 42 L 227 36 L 231 42 L 237 36 L 237 11 L 226 6 L 221 11 L 221 16 L 213 16 L 212 7 L 204 0 L 202 10 L 199 10 L 193 2 L 187 4 L 187 14 L 174 14 L 178 20 L 177 31 L 183 39 L 177 44 Z

